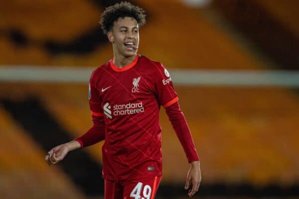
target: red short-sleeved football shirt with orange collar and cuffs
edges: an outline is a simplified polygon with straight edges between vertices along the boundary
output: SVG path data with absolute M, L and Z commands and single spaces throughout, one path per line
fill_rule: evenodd
M 140 55 L 124 68 L 111 60 L 92 73 L 89 99 L 105 119 L 103 178 L 161 176 L 159 109 L 178 100 L 164 66 Z

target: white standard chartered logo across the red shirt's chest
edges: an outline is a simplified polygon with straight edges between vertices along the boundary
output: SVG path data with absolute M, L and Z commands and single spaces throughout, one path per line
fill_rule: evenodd
M 115 104 L 113 109 L 109 102 L 106 102 L 103 106 L 104 114 L 107 118 L 112 119 L 113 116 L 130 115 L 140 112 L 144 112 L 145 108 L 142 102 L 139 103 L 126 103 L 126 104 Z

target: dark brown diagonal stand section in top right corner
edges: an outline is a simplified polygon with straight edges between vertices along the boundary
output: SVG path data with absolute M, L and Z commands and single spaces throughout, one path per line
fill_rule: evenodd
M 296 17 L 297 5 L 298 2 L 293 3 L 293 0 L 265 0 L 263 3 L 258 0 L 213 1 L 213 6 L 250 39 L 253 46 L 258 46 L 264 57 L 269 57 L 279 68 L 288 70 L 299 69 L 298 33 L 289 21 L 291 16 Z M 281 10 L 277 11 L 279 14 L 275 9 Z

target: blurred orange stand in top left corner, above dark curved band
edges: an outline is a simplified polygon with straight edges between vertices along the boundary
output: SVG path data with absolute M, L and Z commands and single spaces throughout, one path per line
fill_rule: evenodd
M 88 0 L 1 1 L 1 29 L 21 30 L 29 40 L 69 41 L 94 27 L 100 10 Z

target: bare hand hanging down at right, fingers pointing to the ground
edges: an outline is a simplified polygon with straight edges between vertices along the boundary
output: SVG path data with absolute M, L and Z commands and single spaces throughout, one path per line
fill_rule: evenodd
M 201 172 L 200 172 L 200 164 L 199 161 L 191 162 L 191 167 L 187 174 L 187 180 L 185 185 L 185 190 L 187 190 L 190 187 L 190 184 L 192 182 L 192 190 L 189 190 L 188 196 L 192 197 L 199 188 L 201 181 Z

